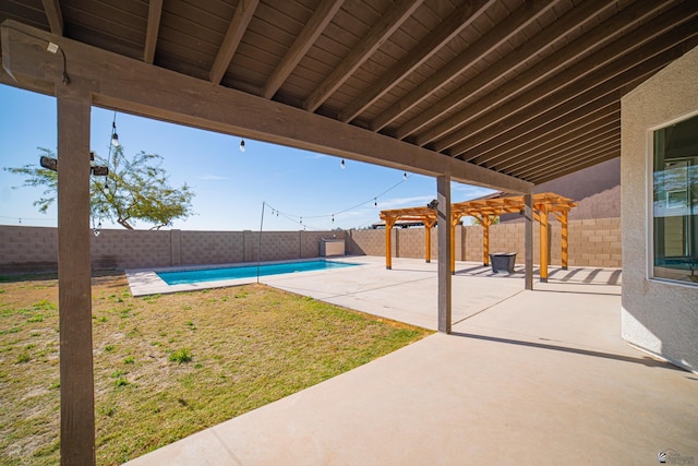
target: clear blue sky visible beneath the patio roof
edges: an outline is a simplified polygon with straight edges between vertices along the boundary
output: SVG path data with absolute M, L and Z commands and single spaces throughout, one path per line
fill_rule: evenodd
M 0 84 L 0 224 L 56 226 L 56 205 L 47 214 L 33 205 L 43 190 L 21 187 L 22 177 L 1 169 L 38 165 L 37 147 L 56 151 L 56 99 Z M 111 110 L 93 107 L 91 148 L 103 157 L 109 151 L 113 117 Z M 174 220 L 172 228 L 258 230 L 263 202 L 265 230 L 361 228 L 378 222 L 382 208 L 421 206 L 436 196 L 431 177 L 408 172 L 404 180 L 401 170 L 349 159 L 341 169 L 340 158 L 253 140 L 245 140 L 242 153 L 240 138 L 121 112 L 116 118 L 127 155 L 161 155 L 170 184 L 186 183 L 196 194 L 195 215 Z M 452 186 L 454 202 L 488 192 Z

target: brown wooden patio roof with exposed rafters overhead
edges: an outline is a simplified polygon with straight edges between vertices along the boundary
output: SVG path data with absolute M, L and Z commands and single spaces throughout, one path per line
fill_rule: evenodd
M 538 184 L 617 157 L 621 96 L 698 45 L 697 11 L 682 0 L 4 0 L 0 22 L 52 33 L 68 74 L 88 53 L 95 73 L 124 85 L 155 79 L 173 91 L 167 98 L 208 118 L 204 100 L 184 99 L 204 85 L 227 96 L 232 115 L 203 124 L 164 111 L 161 92 L 107 86 L 95 105 L 430 175 L 467 162 L 469 179 L 465 170 L 455 179 L 498 189 L 512 180 L 471 165 Z M 17 40 L 12 29 L 2 41 Z M 43 49 L 44 65 L 58 64 Z M 0 72 L 0 82 L 55 94 L 32 77 Z M 255 118 L 260 105 L 284 124 L 311 118 L 279 134 Z M 373 145 L 401 144 L 366 157 L 308 134 L 332 128 L 338 138 L 340 127 Z

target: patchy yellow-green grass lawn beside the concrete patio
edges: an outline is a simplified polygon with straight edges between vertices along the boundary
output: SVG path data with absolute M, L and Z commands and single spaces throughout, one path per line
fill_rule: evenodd
M 93 278 L 97 463 L 266 405 L 430 331 L 263 285 L 134 298 Z M 59 463 L 58 282 L 0 279 L 0 464 Z

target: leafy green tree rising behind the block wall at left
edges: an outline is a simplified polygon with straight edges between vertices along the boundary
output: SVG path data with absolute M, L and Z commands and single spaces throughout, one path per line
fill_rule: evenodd
M 41 155 L 55 157 L 48 148 L 38 150 Z M 91 177 L 93 218 L 110 219 L 128 229 L 134 229 L 132 224 L 141 220 L 159 229 L 192 215 L 194 193 L 186 184 L 170 187 L 161 163 L 161 156 L 143 151 L 129 159 L 121 145 L 110 151 L 108 159 L 95 156 L 95 165 L 108 167 L 109 175 Z M 24 187 L 46 187 L 41 198 L 34 202 L 39 212 L 46 213 L 58 193 L 58 174 L 33 164 L 4 170 L 25 176 Z

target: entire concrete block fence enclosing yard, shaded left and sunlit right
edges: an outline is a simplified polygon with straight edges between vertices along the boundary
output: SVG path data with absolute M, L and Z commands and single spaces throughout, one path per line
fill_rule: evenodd
M 533 229 L 533 261 L 539 258 L 538 224 Z M 394 228 L 394 258 L 424 258 L 422 228 Z M 323 238 L 344 238 L 347 254 L 385 254 L 385 230 L 263 231 L 262 261 L 308 259 L 320 255 Z M 551 223 L 551 263 L 561 260 L 559 224 Z M 94 270 L 121 270 L 170 265 L 203 265 L 255 262 L 258 231 L 186 231 L 105 229 L 93 236 Z M 491 252 L 517 252 L 524 261 L 524 224 L 506 223 L 490 229 Z M 432 231 L 432 260 L 438 256 L 437 231 Z M 482 261 L 482 228 L 456 228 L 456 259 Z M 569 222 L 569 265 L 619 267 L 621 219 L 598 218 Z M 0 274 L 55 272 L 58 270 L 56 228 L 0 226 Z

